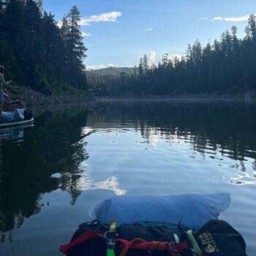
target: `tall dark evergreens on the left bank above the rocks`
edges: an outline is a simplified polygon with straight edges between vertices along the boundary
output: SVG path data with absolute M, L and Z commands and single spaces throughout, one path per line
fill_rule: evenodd
M 72 7 L 61 26 L 42 11 L 42 0 L 0 0 L 0 61 L 20 85 L 51 94 L 87 90 L 86 46 L 80 11 Z

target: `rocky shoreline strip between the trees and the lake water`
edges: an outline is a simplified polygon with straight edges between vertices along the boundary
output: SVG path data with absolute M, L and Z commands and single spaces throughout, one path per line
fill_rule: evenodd
M 5 92 L 10 97 L 5 97 L 4 111 L 15 108 L 26 108 L 31 110 L 35 117 L 47 111 L 60 110 L 64 108 L 74 108 L 80 105 L 87 105 L 90 102 L 104 101 L 181 101 L 181 102 L 256 102 L 256 91 L 246 93 L 227 92 L 223 94 L 176 94 L 176 95 L 121 95 L 118 97 L 94 97 L 75 96 L 68 93 L 52 94 L 46 96 L 39 91 L 32 90 L 29 86 L 12 86 L 6 88 Z

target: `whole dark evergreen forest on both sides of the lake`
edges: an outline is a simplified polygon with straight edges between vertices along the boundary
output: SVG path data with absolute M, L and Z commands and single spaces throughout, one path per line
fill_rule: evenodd
M 79 24 L 75 6 L 59 23 L 42 10 L 42 0 L 0 0 L 0 64 L 7 67 L 7 79 L 49 95 L 70 89 L 115 97 L 256 90 L 255 15 L 242 39 L 232 26 L 204 47 L 198 40 L 188 45 L 181 58 L 165 54 L 150 66 L 144 55 L 132 73 L 89 78 Z

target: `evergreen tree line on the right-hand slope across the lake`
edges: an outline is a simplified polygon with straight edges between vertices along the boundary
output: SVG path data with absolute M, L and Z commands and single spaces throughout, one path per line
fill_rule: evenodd
M 256 90 L 256 16 L 250 15 L 243 39 L 237 28 L 203 47 L 198 40 L 188 45 L 181 59 L 162 56 L 158 65 L 140 59 L 132 75 L 121 72 L 91 80 L 96 95 L 162 95 L 185 93 L 244 92 Z

